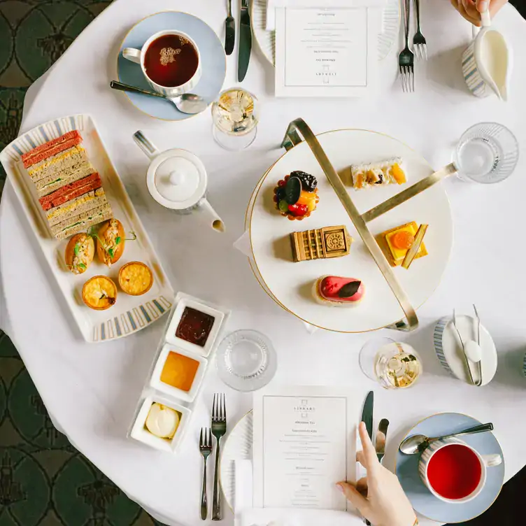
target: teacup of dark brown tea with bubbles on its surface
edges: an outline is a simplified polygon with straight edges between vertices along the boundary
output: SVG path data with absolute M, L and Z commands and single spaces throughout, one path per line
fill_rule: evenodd
M 150 86 L 167 97 L 189 92 L 201 78 L 199 49 L 181 31 L 159 31 L 140 50 L 125 48 L 122 55 L 140 64 Z

